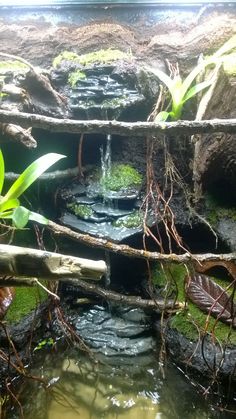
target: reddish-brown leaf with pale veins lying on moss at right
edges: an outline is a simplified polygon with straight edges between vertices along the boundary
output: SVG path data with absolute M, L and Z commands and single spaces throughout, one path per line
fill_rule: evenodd
M 209 276 L 187 277 L 187 296 L 200 310 L 236 327 L 236 305 L 232 297 Z

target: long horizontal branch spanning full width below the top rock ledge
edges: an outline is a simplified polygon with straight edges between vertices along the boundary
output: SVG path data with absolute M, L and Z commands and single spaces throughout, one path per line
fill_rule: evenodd
M 121 136 L 143 137 L 147 135 L 180 135 L 212 132 L 236 132 L 236 119 L 212 119 L 206 121 L 177 122 L 119 122 L 119 121 L 78 121 L 58 119 L 42 115 L 0 111 L 0 122 L 17 123 L 23 127 L 41 128 L 53 132 L 117 134 Z

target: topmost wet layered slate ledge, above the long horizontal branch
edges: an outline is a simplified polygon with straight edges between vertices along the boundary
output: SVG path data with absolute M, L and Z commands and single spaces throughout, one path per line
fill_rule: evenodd
M 51 81 L 67 97 L 72 118 L 124 120 L 124 111 L 144 112 L 158 94 L 157 80 L 143 73 L 131 56 L 112 64 L 62 60 L 51 72 Z

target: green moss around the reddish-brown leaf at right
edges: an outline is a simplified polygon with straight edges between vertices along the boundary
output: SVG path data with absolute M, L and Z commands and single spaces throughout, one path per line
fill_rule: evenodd
M 170 290 L 172 291 L 173 289 L 176 289 L 177 286 L 177 299 L 182 303 L 185 302 L 186 297 L 184 279 L 187 272 L 184 265 L 169 264 L 164 267 L 164 270 L 162 270 L 161 266 L 158 264 L 155 266 L 152 272 L 155 285 L 163 287 L 166 286 L 166 284 L 169 284 L 169 286 L 166 287 L 168 292 L 170 292 Z M 229 285 L 227 281 L 222 279 L 214 278 L 214 280 L 224 288 Z M 170 283 L 172 286 L 170 286 Z M 176 285 L 174 285 L 174 283 Z M 199 338 L 199 333 L 203 335 L 206 332 L 212 332 L 220 342 L 228 341 L 228 336 L 230 335 L 229 341 L 232 344 L 236 344 L 235 331 L 233 330 L 231 332 L 231 329 L 227 324 L 221 321 L 216 321 L 216 319 L 212 316 L 210 316 L 209 324 L 206 330 L 207 317 L 207 314 L 203 313 L 191 301 L 188 301 L 186 309 L 179 311 L 175 316 L 173 316 L 170 321 L 170 325 L 172 328 L 177 329 L 188 339 L 197 340 Z

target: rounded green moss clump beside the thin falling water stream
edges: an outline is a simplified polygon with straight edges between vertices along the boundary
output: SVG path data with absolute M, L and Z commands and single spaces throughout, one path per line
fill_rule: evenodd
M 108 191 L 120 191 L 132 186 L 141 186 L 142 176 L 128 164 L 114 164 L 110 174 L 105 179 L 102 179 L 101 182 Z

